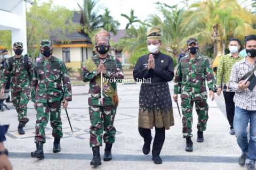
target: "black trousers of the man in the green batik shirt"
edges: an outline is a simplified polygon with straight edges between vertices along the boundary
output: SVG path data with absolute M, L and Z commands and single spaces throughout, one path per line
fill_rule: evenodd
M 235 92 L 223 91 L 223 95 L 225 99 L 226 113 L 227 113 L 230 129 L 233 129 L 233 121 L 234 121 L 234 115 L 235 115 L 235 103 L 233 101 L 233 98 L 235 96 Z

